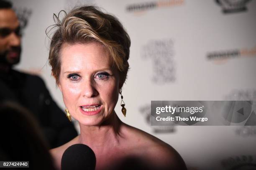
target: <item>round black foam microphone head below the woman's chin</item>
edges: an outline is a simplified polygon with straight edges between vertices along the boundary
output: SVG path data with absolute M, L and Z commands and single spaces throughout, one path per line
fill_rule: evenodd
M 61 158 L 61 170 L 95 170 L 95 165 L 95 153 L 84 144 L 71 145 Z

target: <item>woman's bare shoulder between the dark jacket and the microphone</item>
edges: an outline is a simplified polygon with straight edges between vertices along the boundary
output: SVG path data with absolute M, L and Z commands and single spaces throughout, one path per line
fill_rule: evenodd
M 77 144 L 78 143 L 78 136 L 75 137 L 73 140 L 67 142 L 64 145 L 61 145 L 60 147 L 56 147 L 54 149 L 50 150 L 50 153 L 54 159 L 54 164 L 57 169 L 61 169 L 61 157 L 64 153 L 64 151 L 71 145 Z

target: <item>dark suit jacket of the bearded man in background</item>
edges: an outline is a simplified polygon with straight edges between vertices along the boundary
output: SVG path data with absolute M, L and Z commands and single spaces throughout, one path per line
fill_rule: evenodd
M 51 148 L 77 136 L 74 125 L 56 105 L 44 81 L 38 76 L 15 70 L 0 73 L 0 101 L 14 101 L 28 109 L 38 119 Z

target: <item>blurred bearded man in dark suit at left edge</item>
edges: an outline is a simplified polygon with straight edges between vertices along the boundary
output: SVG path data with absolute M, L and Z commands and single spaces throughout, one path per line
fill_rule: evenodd
M 76 137 L 77 131 L 40 77 L 12 69 L 20 61 L 20 38 L 20 23 L 12 4 L 0 0 L 0 101 L 15 101 L 30 110 L 50 147 L 58 147 Z

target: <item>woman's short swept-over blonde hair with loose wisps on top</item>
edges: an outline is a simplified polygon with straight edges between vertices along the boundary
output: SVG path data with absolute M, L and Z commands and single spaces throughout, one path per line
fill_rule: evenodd
M 120 73 L 121 87 L 123 86 L 129 68 L 131 40 L 117 18 L 103 13 L 95 6 L 83 6 L 71 10 L 62 21 L 54 15 L 54 20 L 57 30 L 51 38 L 49 63 L 57 85 L 62 45 L 96 41 L 102 43 L 113 58 Z

